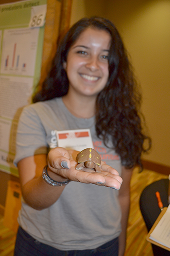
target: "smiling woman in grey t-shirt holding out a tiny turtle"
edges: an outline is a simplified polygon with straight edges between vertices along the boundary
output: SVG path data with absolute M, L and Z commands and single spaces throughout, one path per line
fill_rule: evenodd
M 17 133 L 23 201 L 15 256 L 123 256 L 130 179 L 149 138 L 115 26 L 100 17 L 74 24 L 33 101 Z M 57 147 L 56 130 L 84 128 L 101 173 L 76 170 L 78 152 Z

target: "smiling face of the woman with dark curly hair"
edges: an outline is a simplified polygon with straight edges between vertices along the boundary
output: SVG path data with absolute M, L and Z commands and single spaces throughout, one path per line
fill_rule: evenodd
M 97 96 L 109 77 L 108 54 L 111 36 L 105 30 L 87 28 L 70 47 L 64 68 L 69 92 Z

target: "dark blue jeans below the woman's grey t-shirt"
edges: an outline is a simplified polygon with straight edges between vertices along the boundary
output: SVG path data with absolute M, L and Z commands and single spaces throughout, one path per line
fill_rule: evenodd
M 118 237 L 93 250 L 60 251 L 18 228 L 14 256 L 118 256 Z

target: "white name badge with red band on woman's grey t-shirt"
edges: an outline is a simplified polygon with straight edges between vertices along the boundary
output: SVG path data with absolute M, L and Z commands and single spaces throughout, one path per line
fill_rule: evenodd
M 82 151 L 93 148 L 90 129 L 56 131 L 58 147 Z

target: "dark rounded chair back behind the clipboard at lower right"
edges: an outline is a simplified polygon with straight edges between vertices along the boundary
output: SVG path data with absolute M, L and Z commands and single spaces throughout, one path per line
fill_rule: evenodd
M 156 191 L 159 191 L 163 206 L 168 207 L 168 185 L 169 179 L 155 181 L 148 185 L 140 196 L 140 211 L 146 223 L 148 232 L 160 214 L 155 193 Z M 159 246 L 152 244 L 152 248 L 154 256 L 170 256 L 170 251 L 167 251 Z

